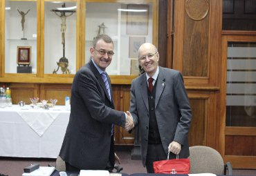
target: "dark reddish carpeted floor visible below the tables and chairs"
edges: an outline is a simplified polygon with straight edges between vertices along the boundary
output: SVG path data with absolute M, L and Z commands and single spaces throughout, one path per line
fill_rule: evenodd
M 131 160 L 131 151 L 116 151 L 121 159 L 122 173 L 146 173 L 140 160 Z M 55 166 L 55 159 L 31 159 L 31 158 L 13 158 L 0 157 L 0 174 L 9 176 L 21 176 L 24 167 L 39 163 L 40 166 Z M 256 175 L 256 170 L 233 170 L 233 175 Z

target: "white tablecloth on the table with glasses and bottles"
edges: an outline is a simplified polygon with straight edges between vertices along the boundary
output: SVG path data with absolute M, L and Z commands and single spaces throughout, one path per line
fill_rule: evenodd
M 70 110 L 0 108 L 0 156 L 57 158 Z

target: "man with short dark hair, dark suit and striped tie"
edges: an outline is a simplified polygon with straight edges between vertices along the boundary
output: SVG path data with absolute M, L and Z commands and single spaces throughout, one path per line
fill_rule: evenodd
M 71 88 L 71 115 L 60 150 L 67 171 L 113 170 L 113 124 L 130 128 L 132 117 L 114 110 L 105 69 L 113 57 L 113 41 L 98 35 L 90 48 L 91 61 L 78 70 Z

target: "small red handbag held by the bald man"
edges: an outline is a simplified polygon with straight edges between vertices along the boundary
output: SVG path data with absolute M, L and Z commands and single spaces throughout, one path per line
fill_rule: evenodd
M 169 159 L 169 153 L 167 160 L 161 160 L 153 163 L 154 173 L 189 174 L 190 159 L 179 159 L 179 155 L 176 155 L 176 159 Z

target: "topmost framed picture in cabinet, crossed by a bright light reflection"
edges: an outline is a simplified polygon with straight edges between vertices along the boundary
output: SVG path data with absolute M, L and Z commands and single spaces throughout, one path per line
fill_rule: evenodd
M 127 35 L 147 35 L 149 6 L 128 4 L 127 10 Z

